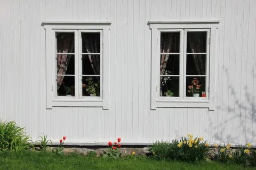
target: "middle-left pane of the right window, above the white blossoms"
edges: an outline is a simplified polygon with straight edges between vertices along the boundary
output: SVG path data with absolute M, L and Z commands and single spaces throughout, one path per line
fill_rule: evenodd
M 162 54 L 160 58 L 161 75 L 180 74 L 180 55 Z

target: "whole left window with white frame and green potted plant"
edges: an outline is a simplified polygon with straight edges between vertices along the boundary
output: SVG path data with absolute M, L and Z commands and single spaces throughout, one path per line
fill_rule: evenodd
M 99 106 L 107 109 L 110 22 L 43 24 L 47 108 Z

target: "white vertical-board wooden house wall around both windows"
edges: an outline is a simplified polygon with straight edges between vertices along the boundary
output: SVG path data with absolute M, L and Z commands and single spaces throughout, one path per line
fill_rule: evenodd
M 212 143 L 256 145 L 255 0 L 0 0 L 0 119 L 35 140 L 127 143 L 193 133 Z M 219 19 L 217 102 L 150 110 L 149 20 Z M 45 106 L 42 21 L 111 21 L 110 109 Z

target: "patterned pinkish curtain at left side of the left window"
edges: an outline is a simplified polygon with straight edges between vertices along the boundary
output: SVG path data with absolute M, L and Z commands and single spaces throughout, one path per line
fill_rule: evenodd
M 58 53 L 68 53 L 72 52 L 74 48 L 74 35 L 61 33 L 58 37 L 59 49 Z M 68 64 L 70 61 L 70 55 L 67 54 L 57 54 L 57 74 L 65 75 L 68 69 Z M 61 83 L 65 76 L 57 76 L 57 90 L 60 88 Z

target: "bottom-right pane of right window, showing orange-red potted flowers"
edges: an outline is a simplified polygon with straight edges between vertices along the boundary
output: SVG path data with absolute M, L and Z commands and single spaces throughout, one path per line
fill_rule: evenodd
M 186 96 L 202 97 L 202 92 L 205 92 L 205 77 L 186 77 Z M 194 94 L 194 96 L 193 96 Z

